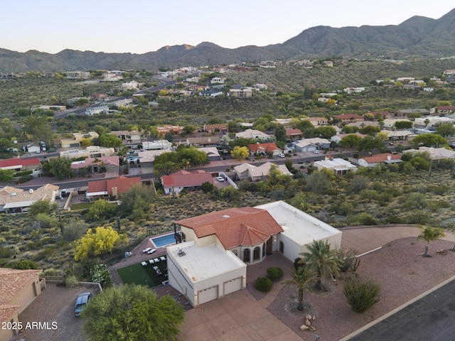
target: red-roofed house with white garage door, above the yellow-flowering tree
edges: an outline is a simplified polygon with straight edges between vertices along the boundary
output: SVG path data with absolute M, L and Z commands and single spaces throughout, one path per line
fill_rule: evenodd
M 85 197 L 90 201 L 93 200 L 119 200 L 123 193 L 129 192 L 135 185 L 141 185 L 141 177 L 109 178 L 103 180 L 89 181 Z

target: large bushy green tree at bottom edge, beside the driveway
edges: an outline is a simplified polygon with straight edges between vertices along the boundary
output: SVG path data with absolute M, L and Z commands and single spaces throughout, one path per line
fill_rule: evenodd
M 82 312 L 92 341 L 176 340 L 185 312 L 171 296 L 145 286 L 107 288 Z

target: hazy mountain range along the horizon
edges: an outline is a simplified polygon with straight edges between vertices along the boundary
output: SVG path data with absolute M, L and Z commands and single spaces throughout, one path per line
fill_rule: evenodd
M 18 53 L 0 48 L 0 72 L 68 70 L 156 70 L 158 67 L 223 65 L 253 60 L 356 58 L 370 55 L 402 59 L 455 55 L 455 9 L 439 19 L 413 16 L 400 25 L 332 28 L 315 26 L 284 43 L 223 48 L 214 43 L 164 46 L 155 52 L 95 53 L 36 50 Z

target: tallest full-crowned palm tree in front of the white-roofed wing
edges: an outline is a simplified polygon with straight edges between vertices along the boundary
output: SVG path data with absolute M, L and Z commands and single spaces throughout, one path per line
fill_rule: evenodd
M 316 273 L 316 289 L 322 289 L 322 278 L 326 273 L 338 276 L 341 269 L 341 259 L 338 259 L 336 250 L 330 249 L 328 241 L 314 241 L 309 245 L 308 252 L 302 252 L 301 263 L 305 263 L 312 271 Z

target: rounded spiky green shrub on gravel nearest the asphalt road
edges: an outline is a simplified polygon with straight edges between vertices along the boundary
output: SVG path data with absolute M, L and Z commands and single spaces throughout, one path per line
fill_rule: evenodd
M 362 282 L 358 278 L 344 283 L 343 293 L 355 313 L 363 313 L 380 301 L 380 285 L 373 281 Z

